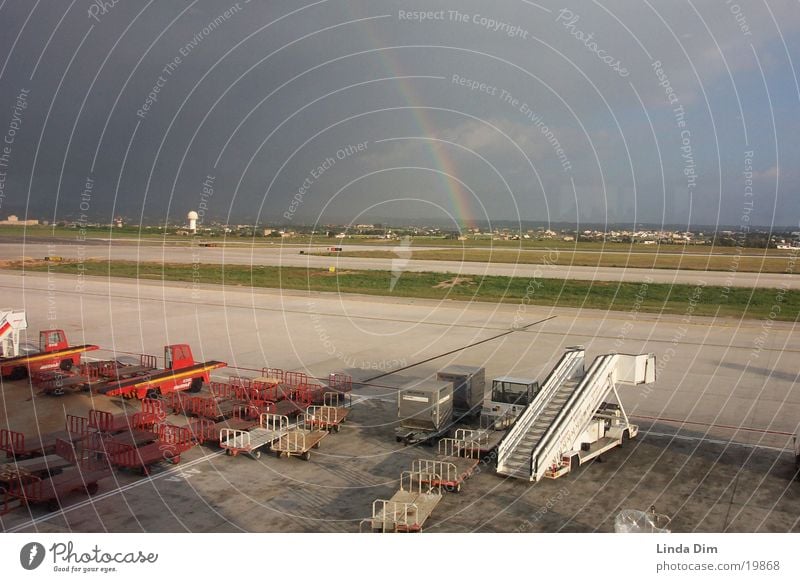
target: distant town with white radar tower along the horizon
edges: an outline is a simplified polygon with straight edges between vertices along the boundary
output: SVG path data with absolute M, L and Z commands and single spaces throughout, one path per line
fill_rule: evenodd
M 715 229 L 703 227 L 697 230 L 656 228 L 641 225 L 633 228 L 580 228 L 574 225 L 561 227 L 520 225 L 512 226 L 509 223 L 493 227 L 462 227 L 445 228 L 441 226 L 422 226 L 415 224 L 393 225 L 384 223 L 373 224 L 324 224 L 324 225 L 254 225 L 254 224 L 226 224 L 212 221 L 203 223 L 200 216 L 192 211 L 184 222 L 139 225 L 132 224 L 123 217 L 117 217 L 111 223 L 87 222 L 84 220 L 60 220 L 50 223 L 47 220 L 23 220 L 15 215 L 0 220 L 2 226 L 25 227 L 56 227 L 61 229 L 75 229 L 86 233 L 91 231 L 98 236 L 106 233 L 135 234 L 162 234 L 165 236 L 195 236 L 201 238 L 274 238 L 293 239 L 319 237 L 334 240 L 399 240 L 405 237 L 425 237 L 428 239 L 441 238 L 443 240 L 458 241 L 548 241 L 562 242 L 601 242 L 625 243 L 642 245 L 714 245 L 714 246 L 744 246 L 749 248 L 774 248 L 794 249 L 800 248 L 800 231 L 788 228 L 769 229 L 766 227 L 752 227 L 749 229 Z

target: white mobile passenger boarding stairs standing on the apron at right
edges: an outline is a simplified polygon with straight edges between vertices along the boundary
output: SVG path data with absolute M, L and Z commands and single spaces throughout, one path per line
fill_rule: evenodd
M 617 384 L 655 381 L 653 354 L 605 354 L 584 370 L 571 348 L 498 446 L 497 472 L 532 482 L 557 478 L 634 438 Z M 607 403 L 613 396 L 616 403 Z

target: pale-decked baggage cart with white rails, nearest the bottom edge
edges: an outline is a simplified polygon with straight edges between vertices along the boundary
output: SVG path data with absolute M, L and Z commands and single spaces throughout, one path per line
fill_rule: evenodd
M 360 529 L 368 527 L 375 533 L 419 532 L 442 500 L 442 491 L 432 485 L 441 476 L 404 471 L 400 475 L 400 490 L 391 499 L 376 499 L 372 517 L 362 520 Z

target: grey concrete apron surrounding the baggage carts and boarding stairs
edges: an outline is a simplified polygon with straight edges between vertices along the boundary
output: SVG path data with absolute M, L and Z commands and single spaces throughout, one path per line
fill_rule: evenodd
M 611 531 L 619 509 L 656 504 L 675 531 L 798 531 L 789 452 L 800 419 L 794 324 L 697 318 L 689 305 L 683 316 L 658 317 L 635 306 L 606 313 L 12 271 L 0 271 L 0 293 L 4 305 L 27 310 L 31 340 L 39 329 L 63 328 L 72 343 L 102 346 L 92 354 L 102 358 L 189 343 L 197 360 L 241 368 L 220 370 L 220 378 L 271 366 L 320 377 L 344 371 L 363 381 L 515 321 L 541 322 L 358 386 L 352 424 L 308 463 L 253 462 L 200 447 L 150 479 L 115 474 L 98 497 L 71 498 L 64 513 L 9 513 L 2 530 L 357 531 L 372 500 L 391 496 L 400 471 L 433 454 L 394 442 L 396 386 L 404 378 L 458 363 L 485 366 L 487 378 L 542 380 L 566 347 L 583 345 L 590 360 L 612 351 L 656 354 L 654 385 L 620 387 L 642 427 L 639 439 L 604 463 L 536 485 L 482 465 L 459 497 L 445 498 L 428 529 Z M 64 410 L 119 406 L 85 394 L 39 396 L 13 383 L 3 395 L 0 425 L 28 432 L 60 428 Z

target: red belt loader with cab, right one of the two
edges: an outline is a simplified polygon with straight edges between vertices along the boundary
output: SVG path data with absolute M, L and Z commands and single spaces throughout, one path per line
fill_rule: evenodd
M 225 362 L 216 360 L 195 363 L 192 349 L 187 344 L 174 344 L 164 347 L 164 369 L 141 366 L 136 374 L 101 382 L 93 385 L 92 390 L 105 396 L 139 400 L 185 390 L 199 392 L 203 384 L 209 382 L 211 370 L 225 366 Z

